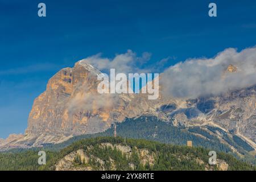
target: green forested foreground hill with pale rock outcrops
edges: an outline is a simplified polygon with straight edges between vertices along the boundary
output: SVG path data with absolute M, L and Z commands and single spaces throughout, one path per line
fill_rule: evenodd
M 217 152 L 217 164 L 209 165 L 208 153 L 202 147 L 100 137 L 79 140 L 59 152 L 46 151 L 42 166 L 38 150 L 2 153 L 0 170 L 254 170 L 224 152 Z

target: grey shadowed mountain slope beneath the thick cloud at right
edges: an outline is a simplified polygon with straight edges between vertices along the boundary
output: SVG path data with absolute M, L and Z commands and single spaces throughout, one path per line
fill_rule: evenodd
M 177 113 L 179 116 L 184 113 L 183 117 L 186 117 L 183 121 L 189 119 L 187 126 L 205 123 L 215 125 L 240 135 L 245 140 L 250 139 L 250 144 L 255 147 L 256 86 L 234 90 L 221 96 L 187 100 L 187 108 L 174 110 L 170 115 L 176 118 Z M 184 122 L 181 123 L 185 125 Z

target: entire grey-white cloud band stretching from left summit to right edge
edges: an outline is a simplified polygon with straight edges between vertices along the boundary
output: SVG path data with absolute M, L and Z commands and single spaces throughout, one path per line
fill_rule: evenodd
M 159 78 L 162 93 L 177 98 L 216 96 L 256 84 L 256 47 L 240 52 L 227 48 L 212 58 L 187 59 L 171 67 L 166 65 L 172 57 L 157 61 L 154 65 L 145 64 L 150 59 L 151 53 L 144 52 L 138 57 L 135 52 L 128 50 L 115 55 L 113 59 L 97 54 L 84 60 L 107 73 L 110 68 L 115 68 L 117 73 L 126 74 L 159 73 L 162 69 Z M 229 66 L 236 71 L 228 71 Z

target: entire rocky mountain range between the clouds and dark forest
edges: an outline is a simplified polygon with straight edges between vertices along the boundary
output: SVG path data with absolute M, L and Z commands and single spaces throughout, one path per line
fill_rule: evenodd
M 236 71 L 234 65 L 229 65 L 225 72 Z M 218 127 L 256 149 L 256 86 L 196 99 L 160 93 L 158 100 L 148 100 L 146 94 L 99 94 L 100 73 L 84 60 L 57 72 L 48 81 L 46 91 L 35 99 L 26 133 L 0 140 L 0 149 L 60 143 L 75 135 L 105 131 L 113 122 L 141 115 L 153 115 L 174 126 Z

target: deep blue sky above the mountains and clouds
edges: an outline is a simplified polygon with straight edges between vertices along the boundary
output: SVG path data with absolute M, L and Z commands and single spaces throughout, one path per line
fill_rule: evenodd
M 47 17 L 38 17 L 44 2 Z M 208 16 L 210 2 L 217 17 Z M 256 1 L 0 0 L 0 137 L 23 133 L 35 97 L 59 69 L 102 53 L 152 53 L 147 64 L 212 57 L 256 44 Z

